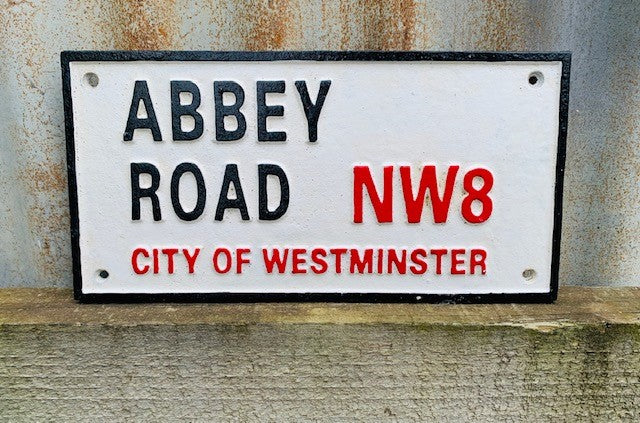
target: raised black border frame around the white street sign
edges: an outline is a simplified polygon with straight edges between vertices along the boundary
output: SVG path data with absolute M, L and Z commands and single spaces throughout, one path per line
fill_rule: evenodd
M 550 291 L 517 294 L 395 294 L 395 293 L 105 293 L 82 292 L 80 268 L 80 222 L 75 169 L 73 104 L 71 101 L 70 62 L 95 61 L 449 61 L 449 62 L 562 62 L 560 116 L 556 162 L 553 247 Z M 558 296 L 562 191 L 566 160 L 569 111 L 570 52 L 422 52 L 422 51 L 63 51 L 62 91 L 67 144 L 67 172 L 71 221 L 74 298 L 82 303 L 137 302 L 343 302 L 343 303 L 552 303 Z

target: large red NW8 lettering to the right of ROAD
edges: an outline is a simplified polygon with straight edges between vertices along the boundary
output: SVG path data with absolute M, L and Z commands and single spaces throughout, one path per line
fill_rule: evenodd
M 434 223 L 446 223 L 451 208 L 451 198 L 454 192 L 458 170 L 460 166 L 451 165 L 447 169 L 447 176 L 442 194 L 438 189 L 436 167 L 424 166 L 420 176 L 418 190 L 414 193 L 411 181 L 411 167 L 399 166 L 400 180 L 402 182 L 402 194 L 404 197 L 407 222 L 420 223 L 427 192 L 431 199 L 431 212 Z M 474 186 L 474 179 L 482 180 L 480 188 Z M 463 177 L 463 188 L 467 195 L 460 206 L 462 217 L 469 223 L 482 223 L 491 216 L 493 201 L 489 192 L 493 187 L 493 174 L 484 168 L 473 168 Z M 371 176 L 369 166 L 360 165 L 353 167 L 353 221 L 362 223 L 364 190 L 367 190 L 376 220 L 379 223 L 393 222 L 393 166 L 383 168 L 382 197 L 378 193 L 376 184 Z M 474 202 L 479 202 L 481 209 L 478 213 L 472 207 Z

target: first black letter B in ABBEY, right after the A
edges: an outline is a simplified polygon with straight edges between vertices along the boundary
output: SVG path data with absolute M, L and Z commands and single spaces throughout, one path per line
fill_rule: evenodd
M 191 103 L 181 104 L 180 93 L 190 93 Z M 204 124 L 202 115 L 198 113 L 200 107 L 200 90 L 191 81 L 171 81 L 171 129 L 174 141 L 191 141 L 202 136 Z M 195 122 L 189 132 L 182 130 L 182 116 L 191 116 Z

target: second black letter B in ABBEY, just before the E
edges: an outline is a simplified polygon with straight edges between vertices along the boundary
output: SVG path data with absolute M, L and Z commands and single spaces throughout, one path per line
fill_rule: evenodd
M 224 93 L 233 93 L 236 98 L 234 104 L 225 106 L 222 102 Z M 216 106 L 216 140 L 235 141 L 244 136 L 247 130 L 247 121 L 240 111 L 244 104 L 244 90 L 240 84 L 233 81 L 215 81 L 213 83 L 213 99 Z M 233 131 L 227 131 L 224 127 L 224 117 L 234 116 L 238 127 Z

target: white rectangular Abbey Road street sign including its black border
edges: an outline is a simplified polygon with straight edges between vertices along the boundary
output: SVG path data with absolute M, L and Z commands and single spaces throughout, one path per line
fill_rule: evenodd
M 65 52 L 76 297 L 552 301 L 569 61 Z

